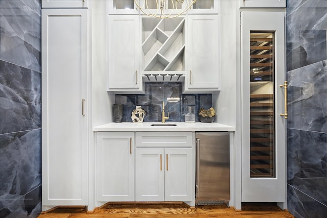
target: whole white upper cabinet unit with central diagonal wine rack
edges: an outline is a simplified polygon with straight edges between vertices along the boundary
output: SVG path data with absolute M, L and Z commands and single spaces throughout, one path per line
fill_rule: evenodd
M 108 91 L 142 93 L 144 82 L 158 81 L 183 82 L 185 93 L 218 91 L 219 5 L 201 0 L 179 17 L 158 19 L 137 14 L 134 1 L 107 0 Z M 164 6 L 166 13 L 171 1 Z M 155 1 L 148 7 L 156 13 Z

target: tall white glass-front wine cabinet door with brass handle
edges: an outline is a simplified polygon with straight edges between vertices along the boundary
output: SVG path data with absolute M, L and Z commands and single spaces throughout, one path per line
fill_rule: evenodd
M 241 29 L 242 202 L 277 202 L 282 208 L 287 207 L 284 16 L 244 11 Z

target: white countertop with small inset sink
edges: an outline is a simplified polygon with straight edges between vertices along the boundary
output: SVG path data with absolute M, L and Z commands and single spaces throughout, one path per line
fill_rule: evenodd
M 176 124 L 176 126 L 151 126 L 152 124 Z M 143 122 L 108 123 L 93 128 L 95 132 L 197 132 L 197 131 L 235 131 L 235 127 L 219 123 L 184 122 Z

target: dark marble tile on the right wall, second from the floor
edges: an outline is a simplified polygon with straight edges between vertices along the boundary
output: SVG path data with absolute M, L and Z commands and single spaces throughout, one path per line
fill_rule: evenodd
M 287 130 L 288 183 L 327 205 L 327 133 Z

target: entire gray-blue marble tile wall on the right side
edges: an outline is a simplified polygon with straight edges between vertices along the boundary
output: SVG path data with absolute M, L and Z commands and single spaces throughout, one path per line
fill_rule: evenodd
M 327 1 L 288 0 L 288 209 L 327 214 Z

